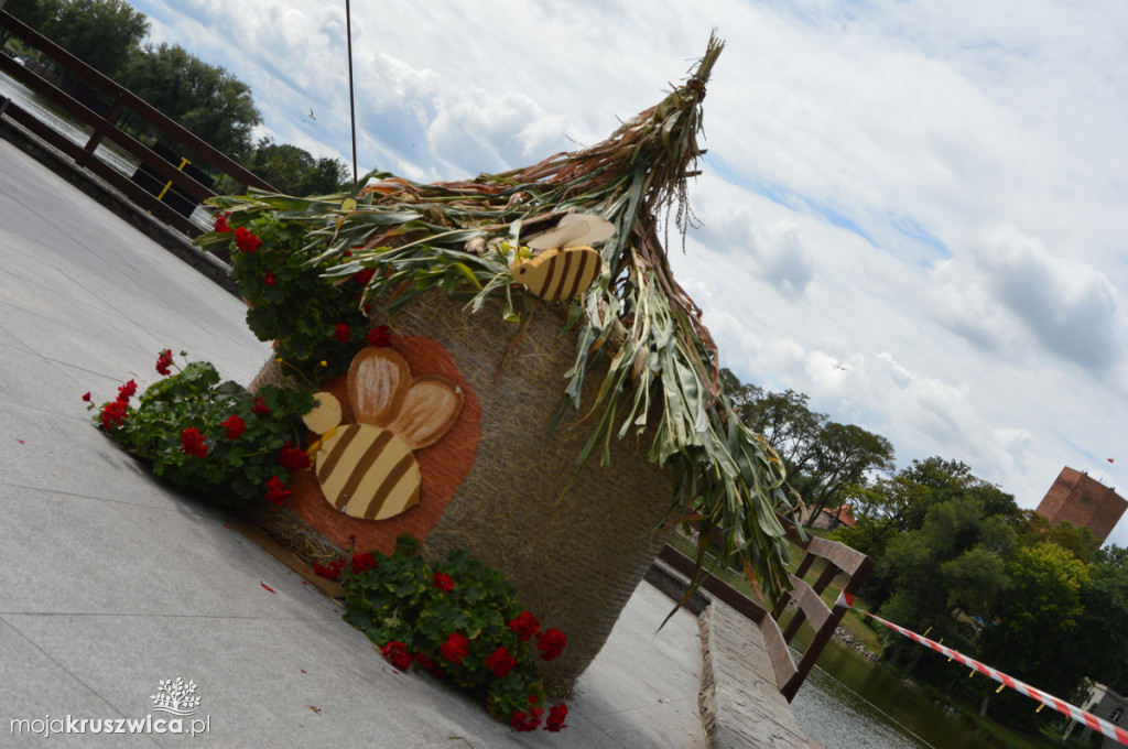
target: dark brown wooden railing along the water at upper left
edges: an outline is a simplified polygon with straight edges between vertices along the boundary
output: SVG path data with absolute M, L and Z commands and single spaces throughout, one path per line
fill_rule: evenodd
M 73 142 L 2 94 L 0 118 L 18 123 L 176 230 L 188 236 L 203 231 L 188 215 L 195 205 L 215 194 L 211 186 L 222 175 L 245 187 L 272 191 L 232 159 L 10 14 L 0 11 L 0 30 L 49 60 L 52 77 L 61 78 L 64 86 L 56 86 L 33 71 L 30 63 L 23 65 L 6 54 L 0 54 L 0 71 L 87 129 L 89 140 L 81 146 Z M 120 126 L 126 122 L 131 130 L 144 130 L 146 139 L 153 141 L 152 148 Z M 106 143 L 140 162 L 132 175 L 122 174 L 95 156 L 99 146 Z

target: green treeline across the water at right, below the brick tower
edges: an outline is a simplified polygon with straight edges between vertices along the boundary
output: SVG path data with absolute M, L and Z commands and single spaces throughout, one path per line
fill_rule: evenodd
M 744 423 L 787 467 L 810 523 L 849 505 L 831 537 L 875 562 L 865 606 L 1075 704 L 1092 679 L 1128 690 L 1128 549 L 1099 549 L 1084 527 L 1050 525 L 963 462 L 932 457 L 895 470 L 879 434 L 722 373 Z M 1060 721 L 998 684 L 875 625 L 890 666 L 982 715 L 1030 732 Z M 1089 707 L 1089 705 L 1083 705 Z

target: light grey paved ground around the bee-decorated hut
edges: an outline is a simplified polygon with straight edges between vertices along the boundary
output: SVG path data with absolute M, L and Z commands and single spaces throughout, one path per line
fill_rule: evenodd
M 697 622 L 681 611 L 655 635 L 670 601 L 649 583 L 581 679 L 569 728 L 513 733 L 447 685 L 397 673 L 331 599 L 90 424 L 82 394 L 144 388 L 165 347 L 249 382 L 268 346 L 244 311 L 0 140 L 0 746 L 706 746 Z M 201 697 L 184 728 L 206 717 L 206 732 L 11 730 L 127 729 L 162 715 L 151 696 L 176 678 Z

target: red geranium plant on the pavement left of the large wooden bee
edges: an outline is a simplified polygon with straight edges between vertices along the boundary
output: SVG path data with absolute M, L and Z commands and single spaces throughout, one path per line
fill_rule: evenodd
M 309 411 L 312 395 L 271 386 L 252 395 L 237 382 L 220 381 L 208 362 L 177 367 L 169 350 L 160 352 L 156 369 L 165 377 L 136 405 L 134 380 L 100 408 L 87 394 L 89 408 L 97 409 L 94 423 L 150 461 L 155 475 L 214 504 L 281 504 L 292 474 L 309 466 L 297 446 L 305 433 L 299 414 Z

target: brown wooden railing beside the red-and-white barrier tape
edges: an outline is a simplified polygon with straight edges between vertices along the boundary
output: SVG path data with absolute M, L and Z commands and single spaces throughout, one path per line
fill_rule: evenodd
M 781 518 L 787 530 L 787 538 L 803 553 L 799 567 L 791 575 L 793 589 L 785 592 L 770 611 L 759 606 L 711 572 L 702 573 L 700 589 L 743 614 L 759 626 L 764 643 L 772 658 L 775 671 L 775 682 L 779 691 L 791 702 L 795 693 L 811 672 L 814 662 L 822 653 L 827 642 L 834 636 L 835 629 L 846 615 L 846 607 L 828 607 L 821 598 L 828 587 L 849 594 L 857 593 L 865 582 L 866 575 L 873 569 L 873 559 L 845 544 L 823 538 L 809 537 L 801 539 L 795 527 Z M 720 538 L 715 538 L 719 541 Z M 685 554 L 667 545 L 659 558 L 676 572 L 690 580 L 694 574 L 694 563 Z M 817 563 L 823 564 L 814 583 L 808 583 L 805 578 Z M 794 613 L 785 628 L 779 628 L 779 620 L 794 601 Z M 803 623 L 810 623 L 814 634 L 802 649 L 799 662 L 792 655 L 791 645 L 795 641 Z

